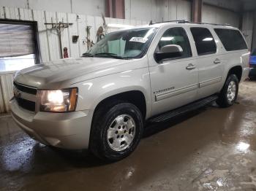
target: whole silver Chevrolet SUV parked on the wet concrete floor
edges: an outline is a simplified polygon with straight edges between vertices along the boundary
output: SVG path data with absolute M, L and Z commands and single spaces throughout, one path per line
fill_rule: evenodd
M 43 144 L 120 160 L 146 122 L 234 104 L 249 50 L 231 26 L 176 21 L 108 34 L 82 58 L 15 74 L 12 117 Z

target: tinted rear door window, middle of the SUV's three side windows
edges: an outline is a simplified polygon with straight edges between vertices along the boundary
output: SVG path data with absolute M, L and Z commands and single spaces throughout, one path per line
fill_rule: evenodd
M 216 52 L 214 37 L 207 28 L 193 27 L 190 28 L 195 40 L 198 55 L 212 54 Z

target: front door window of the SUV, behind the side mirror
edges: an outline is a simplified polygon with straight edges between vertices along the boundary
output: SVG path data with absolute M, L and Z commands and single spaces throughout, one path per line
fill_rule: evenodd
M 163 46 L 169 44 L 177 44 L 182 47 L 183 52 L 178 58 L 187 58 L 192 56 L 189 38 L 187 37 L 187 33 L 184 28 L 176 27 L 167 29 L 157 45 L 156 52 L 159 52 Z

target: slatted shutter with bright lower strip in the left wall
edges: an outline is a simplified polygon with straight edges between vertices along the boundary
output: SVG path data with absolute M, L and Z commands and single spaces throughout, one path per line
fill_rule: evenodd
M 0 21 L 0 72 L 33 66 L 36 56 L 32 24 Z

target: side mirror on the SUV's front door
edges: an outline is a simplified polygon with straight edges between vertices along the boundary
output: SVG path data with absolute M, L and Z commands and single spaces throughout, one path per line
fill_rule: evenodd
M 183 49 L 181 46 L 176 44 L 169 44 L 161 47 L 160 52 L 155 52 L 155 58 L 157 62 L 162 61 L 167 58 L 176 58 L 181 56 Z

